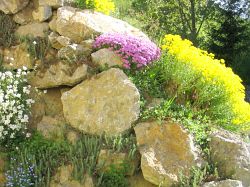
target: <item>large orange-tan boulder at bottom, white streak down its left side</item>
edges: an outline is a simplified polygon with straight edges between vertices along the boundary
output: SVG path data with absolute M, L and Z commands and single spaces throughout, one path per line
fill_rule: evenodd
M 157 121 L 138 124 L 135 128 L 141 153 L 144 178 L 163 187 L 175 185 L 180 172 L 188 176 L 192 167 L 201 165 L 193 138 L 178 124 Z

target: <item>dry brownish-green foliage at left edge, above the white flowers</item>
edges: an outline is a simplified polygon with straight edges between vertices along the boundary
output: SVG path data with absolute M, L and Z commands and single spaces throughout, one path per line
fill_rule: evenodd
M 10 47 L 15 44 L 16 23 L 11 16 L 0 12 L 0 46 Z

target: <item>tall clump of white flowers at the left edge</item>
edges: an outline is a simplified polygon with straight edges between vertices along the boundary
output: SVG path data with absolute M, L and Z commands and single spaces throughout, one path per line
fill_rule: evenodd
M 16 72 L 0 72 L 0 145 L 10 145 L 19 138 L 28 137 L 31 104 L 27 84 L 27 68 Z

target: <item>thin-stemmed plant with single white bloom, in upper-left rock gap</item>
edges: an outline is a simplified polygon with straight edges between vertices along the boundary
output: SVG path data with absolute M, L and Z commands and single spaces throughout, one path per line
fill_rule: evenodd
M 45 62 L 47 52 L 51 48 L 48 37 L 33 38 L 27 36 L 20 38 L 20 41 L 26 43 L 28 53 L 34 60 L 41 60 L 41 62 Z

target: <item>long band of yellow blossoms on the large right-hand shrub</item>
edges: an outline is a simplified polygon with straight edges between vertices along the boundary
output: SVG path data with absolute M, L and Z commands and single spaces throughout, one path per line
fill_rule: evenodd
M 250 129 L 250 104 L 244 100 L 242 80 L 231 68 L 225 66 L 224 60 L 215 59 L 213 54 L 194 47 L 192 42 L 183 40 L 178 35 L 166 35 L 162 49 L 190 65 L 195 72 L 201 74 L 204 82 L 222 87 L 234 114 L 232 122 L 248 124 L 244 128 Z

